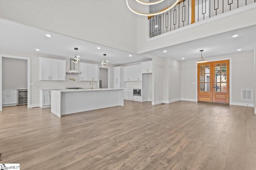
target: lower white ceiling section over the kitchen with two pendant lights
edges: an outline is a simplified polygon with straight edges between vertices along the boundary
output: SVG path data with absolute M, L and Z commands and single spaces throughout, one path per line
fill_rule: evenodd
M 52 37 L 46 37 L 46 34 Z M 106 54 L 109 64 L 122 65 L 150 60 L 147 57 L 104 47 L 64 35 L 51 33 L 27 25 L 0 19 L 0 49 L 22 51 L 27 53 L 47 54 L 64 58 L 71 58 L 76 54 L 80 60 L 96 61 L 101 63 Z M 111 40 L 110 40 L 111 41 Z M 101 47 L 101 49 L 97 49 Z M 35 49 L 40 49 L 36 51 Z M 129 57 L 132 55 L 132 57 Z

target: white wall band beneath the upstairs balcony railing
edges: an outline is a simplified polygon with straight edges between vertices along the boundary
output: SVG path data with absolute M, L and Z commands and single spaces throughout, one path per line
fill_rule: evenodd
M 154 49 L 160 49 L 163 47 L 200 39 L 202 37 L 255 25 L 255 16 L 256 4 L 254 3 L 242 8 L 238 8 L 237 10 L 227 12 L 226 14 L 212 17 L 208 20 L 204 20 L 203 22 L 194 23 L 192 25 L 170 31 L 150 39 L 148 38 L 149 21 L 146 19 L 146 17 L 138 16 L 137 53 L 145 53 Z

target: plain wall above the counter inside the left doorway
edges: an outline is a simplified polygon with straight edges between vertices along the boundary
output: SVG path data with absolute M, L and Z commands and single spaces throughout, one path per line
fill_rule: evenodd
M 2 58 L 2 89 L 28 88 L 27 63 L 26 60 Z

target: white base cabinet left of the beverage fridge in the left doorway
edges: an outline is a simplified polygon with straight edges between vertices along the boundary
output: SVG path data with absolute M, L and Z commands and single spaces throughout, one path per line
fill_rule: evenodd
M 13 106 L 17 104 L 17 90 L 2 90 L 2 105 Z

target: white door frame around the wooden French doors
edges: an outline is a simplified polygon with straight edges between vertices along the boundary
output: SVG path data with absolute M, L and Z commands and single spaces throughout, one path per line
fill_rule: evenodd
M 208 62 L 212 61 L 222 61 L 222 60 L 229 60 L 229 104 L 232 105 L 232 58 L 223 58 L 223 59 L 214 59 L 214 60 L 208 60 Z M 196 100 L 195 102 L 198 102 L 198 63 L 196 63 Z

